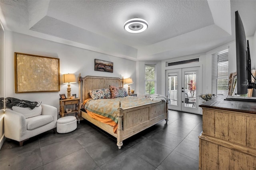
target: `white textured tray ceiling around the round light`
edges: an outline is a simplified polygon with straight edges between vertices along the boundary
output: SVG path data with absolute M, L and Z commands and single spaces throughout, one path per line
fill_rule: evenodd
M 253 0 L 1 0 L 4 28 L 132 60 L 163 60 L 210 51 L 234 37 L 239 11 L 256 30 Z M 148 22 L 141 34 L 124 22 Z

